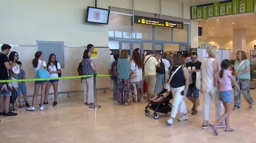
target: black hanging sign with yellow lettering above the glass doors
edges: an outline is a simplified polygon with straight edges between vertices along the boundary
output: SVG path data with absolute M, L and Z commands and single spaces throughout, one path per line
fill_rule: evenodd
M 143 25 L 153 25 L 153 26 L 164 26 L 167 28 L 178 28 L 183 29 L 183 22 L 175 22 L 164 19 L 154 19 L 151 17 L 134 16 L 134 23 Z

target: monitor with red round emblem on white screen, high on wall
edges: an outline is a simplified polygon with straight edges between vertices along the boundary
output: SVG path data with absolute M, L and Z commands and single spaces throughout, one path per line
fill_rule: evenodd
M 96 7 L 88 7 L 86 14 L 86 22 L 107 25 L 109 16 L 110 10 Z

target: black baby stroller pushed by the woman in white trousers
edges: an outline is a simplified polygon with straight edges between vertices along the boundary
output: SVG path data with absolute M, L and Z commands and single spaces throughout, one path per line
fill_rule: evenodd
M 166 91 L 167 89 L 163 89 L 160 93 L 158 93 L 157 96 L 163 94 Z M 148 110 L 148 108 L 154 111 L 155 119 L 159 118 L 159 114 L 157 112 L 168 114 L 168 112 L 172 111 L 172 104 L 169 102 L 170 99 L 173 99 L 172 93 L 170 93 L 165 99 L 163 99 L 163 101 L 160 101 L 160 102 L 150 101 L 149 104 L 145 107 L 145 115 L 146 116 L 150 115 L 150 111 Z

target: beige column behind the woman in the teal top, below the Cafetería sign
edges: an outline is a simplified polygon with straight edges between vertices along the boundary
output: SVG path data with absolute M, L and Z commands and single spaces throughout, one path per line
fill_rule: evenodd
M 246 51 L 246 29 L 233 29 L 232 57 L 236 57 L 237 51 Z

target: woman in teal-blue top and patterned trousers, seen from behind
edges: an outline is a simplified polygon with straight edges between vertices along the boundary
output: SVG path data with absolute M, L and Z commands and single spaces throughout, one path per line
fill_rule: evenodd
M 117 61 L 117 93 L 118 104 L 129 105 L 129 81 L 130 81 L 130 61 L 128 53 L 122 50 Z

